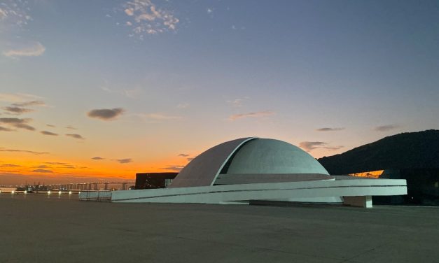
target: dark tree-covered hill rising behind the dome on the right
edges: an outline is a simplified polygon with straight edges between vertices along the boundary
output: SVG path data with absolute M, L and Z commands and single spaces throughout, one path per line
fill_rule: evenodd
M 439 130 L 396 134 L 318 160 L 330 174 L 439 168 Z

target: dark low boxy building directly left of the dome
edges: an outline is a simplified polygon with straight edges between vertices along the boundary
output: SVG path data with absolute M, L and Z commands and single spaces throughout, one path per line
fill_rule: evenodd
M 136 173 L 136 190 L 167 188 L 179 173 Z

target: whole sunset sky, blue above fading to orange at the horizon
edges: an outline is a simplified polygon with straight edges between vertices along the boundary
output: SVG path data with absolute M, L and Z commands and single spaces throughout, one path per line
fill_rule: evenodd
M 0 0 L 0 185 L 439 129 L 438 1 Z

